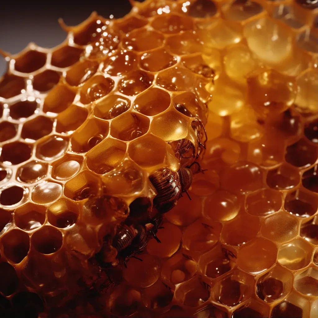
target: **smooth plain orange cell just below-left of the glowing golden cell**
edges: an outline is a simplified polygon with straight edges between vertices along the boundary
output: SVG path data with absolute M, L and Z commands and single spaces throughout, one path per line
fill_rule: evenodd
M 142 167 L 153 167 L 165 161 L 167 144 L 154 135 L 145 135 L 131 142 L 128 154 Z

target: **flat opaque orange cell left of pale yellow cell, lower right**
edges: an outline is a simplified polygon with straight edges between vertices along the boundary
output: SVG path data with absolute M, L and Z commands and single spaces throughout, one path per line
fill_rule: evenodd
M 239 250 L 237 265 L 245 272 L 259 274 L 276 263 L 277 247 L 267 240 L 256 238 Z

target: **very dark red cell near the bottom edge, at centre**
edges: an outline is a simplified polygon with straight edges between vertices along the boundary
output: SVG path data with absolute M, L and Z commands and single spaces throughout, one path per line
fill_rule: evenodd
M 154 285 L 144 289 L 141 297 L 144 305 L 151 309 L 167 307 L 173 298 L 174 286 L 170 287 L 158 280 Z

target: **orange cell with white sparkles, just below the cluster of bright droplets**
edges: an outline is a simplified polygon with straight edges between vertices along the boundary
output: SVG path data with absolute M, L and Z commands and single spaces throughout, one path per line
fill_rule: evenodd
M 134 52 L 117 51 L 103 62 L 103 72 L 111 76 L 122 76 L 137 66 L 137 55 Z

